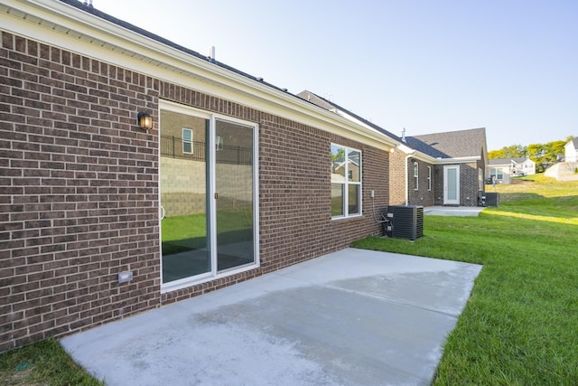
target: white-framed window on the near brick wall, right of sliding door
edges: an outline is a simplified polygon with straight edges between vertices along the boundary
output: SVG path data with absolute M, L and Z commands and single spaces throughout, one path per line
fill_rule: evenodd
M 331 217 L 361 214 L 361 152 L 331 145 Z

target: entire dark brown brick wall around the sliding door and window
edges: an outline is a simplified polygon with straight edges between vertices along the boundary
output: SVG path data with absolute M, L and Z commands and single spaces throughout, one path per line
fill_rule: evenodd
M 385 151 L 10 33 L 0 96 L 0 352 L 382 233 L 368 192 L 383 211 Z M 259 124 L 261 268 L 161 295 L 158 130 L 135 126 L 159 98 Z M 362 151 L 362 217 L 331 221 L 331 142 Z

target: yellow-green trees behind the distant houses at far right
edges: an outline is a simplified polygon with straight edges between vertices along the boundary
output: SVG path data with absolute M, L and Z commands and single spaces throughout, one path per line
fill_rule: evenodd
M 504 146 L 499 150 L 489 151 L 488 158 L 528 157 L 536 163 L 536 173 L 542 173 L 549 165 L 553 165 L 561 159 L 564 155 L 564 145 L 572 141 L 573 138 L 574 137 L 567 137 L 565 141 L 553 141 L 547 144 Z

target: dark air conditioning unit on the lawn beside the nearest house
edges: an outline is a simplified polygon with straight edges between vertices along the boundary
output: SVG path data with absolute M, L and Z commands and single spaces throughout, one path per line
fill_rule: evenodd
M 394 239 L 415 240 L 424 236 L 424 207 L 390 205 L 387 207 L 386 234 Z

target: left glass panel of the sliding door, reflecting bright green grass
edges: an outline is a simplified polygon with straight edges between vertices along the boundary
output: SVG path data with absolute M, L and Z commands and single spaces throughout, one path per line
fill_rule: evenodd
M 163 283 L 211 271 L 209 120 L 161 110 Z

